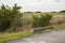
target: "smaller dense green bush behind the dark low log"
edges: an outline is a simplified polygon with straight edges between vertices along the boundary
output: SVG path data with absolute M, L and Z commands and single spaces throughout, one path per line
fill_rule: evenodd
M 40 15 L 39 16 L 35 16 L 32 15 L 32 27 L 44 27 L 50 25 L 50 20 L 52 18 L 51 14 L 46 14 L 46 15 Z

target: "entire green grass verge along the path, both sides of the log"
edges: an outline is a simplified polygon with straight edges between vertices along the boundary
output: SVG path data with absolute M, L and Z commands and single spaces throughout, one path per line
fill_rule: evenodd
M 55 30 L 61 30 L 61 29 L 64 29 L 64 28 L 65 28 L 65 24 L 54 26 Z M 43 30 L 42 32 L 49 32 L 51 30 L 53 30 L 53 29 L 47 29 L 47 30 Z M 28 35 L 36 34 L 36 33 L 37 32 L 30 32 L 30 31 L 1 33 L 0 34 L 0 43 L 5 43 L 6 41 L 10 41 L 10 40 L 16 40 L 16 39 L 28 37 Z

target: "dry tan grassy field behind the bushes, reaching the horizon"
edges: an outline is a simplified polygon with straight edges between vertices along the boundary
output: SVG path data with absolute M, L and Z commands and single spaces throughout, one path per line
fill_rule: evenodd
M 46 13 L 24 13 L 23 17 L 27 19 L 31 19 L 31 15 L 44 15 Z M 52 14 L 52 23 L 58 24 L 58 23 L 65 23 L 65 13 L 48 13 Z

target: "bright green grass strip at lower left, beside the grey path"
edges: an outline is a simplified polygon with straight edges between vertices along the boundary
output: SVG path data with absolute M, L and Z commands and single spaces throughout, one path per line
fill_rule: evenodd
M 15 32 L 15 33 L 2 33 L 0 34 L 0 43 L 5 43 L 6 41 L 10 41 L 10 40 L 16 40 L 16 39 L 20 39 L 20 38 L 24 38 L 24 37 L 28 37 L 32 34 L 31 32 Z

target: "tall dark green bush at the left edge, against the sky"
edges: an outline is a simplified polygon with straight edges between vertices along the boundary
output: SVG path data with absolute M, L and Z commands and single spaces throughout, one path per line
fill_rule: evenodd
M 21 6 L 17 6 L 17 4 L 14 4 L 14 6 L 0 6 L 0 31 L 6 30 L 11 23 L 15 17 L 20 19 L 22 17 L 22 13 L 20 12 Z

